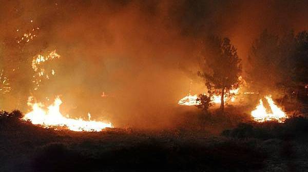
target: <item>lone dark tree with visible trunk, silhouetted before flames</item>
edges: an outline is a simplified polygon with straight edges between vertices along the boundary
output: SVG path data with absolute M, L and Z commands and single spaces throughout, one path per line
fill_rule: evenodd
M 204 78 L 208 89 L 220 90 L 220 109 L 223 111 L 225 91 L 236 85 L 242 71 L 241 59 L 229 38 L 210 36 L 204 42 L 202 71 L 198 75 Z

